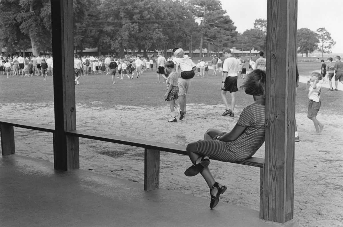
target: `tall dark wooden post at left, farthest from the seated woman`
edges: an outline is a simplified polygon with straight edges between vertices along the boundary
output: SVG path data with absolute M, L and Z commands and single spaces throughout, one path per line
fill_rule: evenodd
M 73 1 L 51 0 L 52 52 L 54 54 L 54 167 L 79 168 L 79 138 L 66 136 L 76 130 Z

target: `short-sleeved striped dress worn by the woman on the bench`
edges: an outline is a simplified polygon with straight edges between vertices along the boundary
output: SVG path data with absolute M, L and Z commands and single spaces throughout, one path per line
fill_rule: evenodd
M 264 143 L 265 106 L 253 103 L 243 109 L 237 124 L 246 127 L 234 141 L 199 140 L 198 154 L 222 162 L 237 162 L 250 158 Z

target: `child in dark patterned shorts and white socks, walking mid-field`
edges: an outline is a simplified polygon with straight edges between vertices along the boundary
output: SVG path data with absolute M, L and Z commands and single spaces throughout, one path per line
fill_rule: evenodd
M 168 122 L 177 122 L 175 108 L 179 108 L 179 106 L 175 103 L 175 100 L 178 99 L 179 94 L 179 87 L 177 84 L 179 72 L 176 71 L 176 65 L 173 61 L 168 61 L 166 67 L 170 70 L 170 74 L 166 81 L 167 92 L 164 94 L 165 101 L 169 102 L 170 106 L 171 118 L 168 119 Z

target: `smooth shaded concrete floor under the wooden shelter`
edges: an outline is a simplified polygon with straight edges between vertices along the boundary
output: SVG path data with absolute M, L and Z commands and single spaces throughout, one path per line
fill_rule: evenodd
M 54 170 L 20 155 L 0 157 L 0 226 L 297 226 L 265 222 L 259 212 L 91 171 Z

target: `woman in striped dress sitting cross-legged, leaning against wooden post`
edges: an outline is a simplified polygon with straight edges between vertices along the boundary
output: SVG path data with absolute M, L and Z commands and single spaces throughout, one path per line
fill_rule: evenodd
M 256 69 L 249 73 L 241 86 L 252 95 L 254 103 L 245 107 L 235 127 L 228 133 L 209 129 L 204 140 L 187 145 L 187 154 L 193 165 L 185 171 L 186 176 L 201 174 L 210 187 L 211 203 L 214 208 L 219 195 L 227 189 L 213 178 L 208 165 L 210 158 L 222 162 L 238 162 L 250 158 L 264 143 L 265 133 L 265 72 Z

